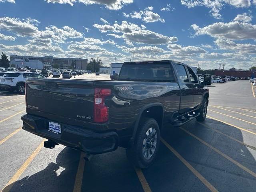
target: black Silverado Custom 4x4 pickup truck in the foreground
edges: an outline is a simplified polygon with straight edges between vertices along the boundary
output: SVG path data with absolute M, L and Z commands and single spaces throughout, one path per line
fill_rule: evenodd
M 117 81 L 28 78 L 22 128 L 48 139 L 47 148 L 101 154 L 120 146 L 146 168 L 164 124 L 206 118 L 208 84 L 210 75 L 200 82 L 188 65 L 171 60 L 124 62 Z

